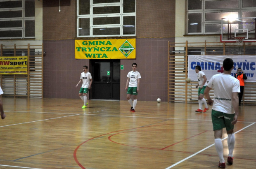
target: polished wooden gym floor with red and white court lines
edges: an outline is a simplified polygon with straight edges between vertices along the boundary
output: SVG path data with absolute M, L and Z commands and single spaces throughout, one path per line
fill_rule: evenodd
M 127 101 L 89 100 L 81 109 L 81 100 L 2 100 L 0 169 L 218 168 L 211 106 L 196 113 L 198 104 L 138 101 L 131 113 Z M 256 106 L 239 109 L 234 164 L 226 169 L 255 169 Z

